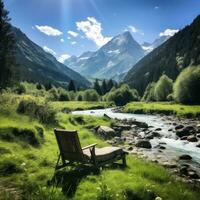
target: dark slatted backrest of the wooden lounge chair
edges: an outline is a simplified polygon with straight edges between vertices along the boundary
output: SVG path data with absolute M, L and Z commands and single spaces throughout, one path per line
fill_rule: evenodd
M 77 131 L 54 129 L 63 160 L 84 161 L 83 151 Z

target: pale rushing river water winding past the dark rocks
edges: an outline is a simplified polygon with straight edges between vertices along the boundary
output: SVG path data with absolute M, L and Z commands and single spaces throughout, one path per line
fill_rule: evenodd
M 161 128 L 162 130 L 159 133 L 162 135 L 162 138 L 156 138 L 150 140 L 153 147 L 158 145 L 161 142 L 166 143 L 166 150 L 163 152 L 166 158 L 169 160 L 177 159 L 179 155 L 188 154 L 192 156 L 192 163 L 197 168 L 200 169 L 200 148 L 196 147 L 197 143 L 192 143 L 188 141 L 183 141 L 176 138 L 174 131 L 174 126 L 172 121 L 168 119 L 163 119 L 159 115 L 147 115 L 147 114 L 130 114 L 130 113 L 117 113 L 114 112 L 112 108 L 108 109 L 99 109 L 99 110 L 84 110 L 84 111 L 74 111 L 73 114 L 81 115 L 91 115 L 91 116 L 104 116 L 108 115 L 111 118 L 116 119 L 135 119 L 140 122 L 145 122 L 149 126 L 152 126 L 152 130 Z M 171 131 L 169 131 L 172 129 Z M 147 151 L 148 152 L 148 151 Z M 151 150 L 151 154 L 154 153 L 154 150 Z M 195 167 L 195 168 L 196 168 Z

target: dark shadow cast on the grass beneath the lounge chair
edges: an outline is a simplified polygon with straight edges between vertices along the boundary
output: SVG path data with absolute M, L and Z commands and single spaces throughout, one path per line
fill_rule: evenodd
M 62 192 L 67 197 L 73 197 L 76 193 L 79 183 L 82 179 L 89 175 L 99 175 L 103 169 L 124 169 L 121 164 L 113 163 L 112 165 L 104 166 L 103 168 L 95 168 L 92 166 L 77 166 L 73 169 L 63 169 L 55 172 L 49 186 L 61 187 Z

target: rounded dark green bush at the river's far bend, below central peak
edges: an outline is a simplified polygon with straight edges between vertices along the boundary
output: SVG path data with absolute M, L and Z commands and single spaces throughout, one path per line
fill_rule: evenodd
M 123 106 L 128 102 L 138 101 L 139 95 L 137 90 L 130 89 L 128 85 L 122 85 L 120 88 L 110 91 L 105 98 L 117 106 Z

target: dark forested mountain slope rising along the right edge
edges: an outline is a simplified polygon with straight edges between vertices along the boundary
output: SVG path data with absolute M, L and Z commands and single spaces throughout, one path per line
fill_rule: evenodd
M 191 25 L 176 33 L 141 59 L 124 81 L 143 93 L 146 86 L 162 74 L 173 80 L 188 65 L 200 64 L 200 15 Z

